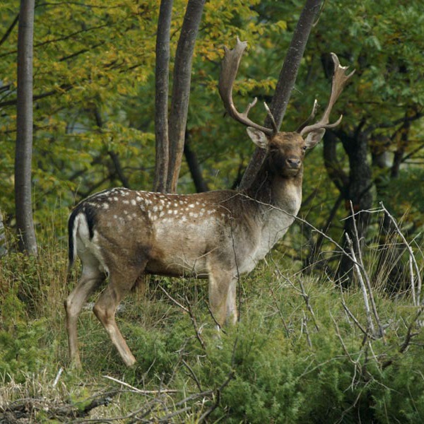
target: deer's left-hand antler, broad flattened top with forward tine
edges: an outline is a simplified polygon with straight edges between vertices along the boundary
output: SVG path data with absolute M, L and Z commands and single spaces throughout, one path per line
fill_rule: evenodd
M 256 98 L 251 103 L 249 103 L 247 109 L 243 113 L 237 111 L 234 102 L 232 101 L 232 86 L 234 85 L 235 77 L 237 76 L 240 59 L 242 59 L 242 54 L 245 52 L 246 47 L 247 42 L 241 42 L 238 37 L 237 44 L 235 45 L 234 49 L 230 50 L 227 47 L 224 47 L 225 55 L 222 62 L 222 68 L 218 82 L 220 98 L 223 100 L 225 110 L 228 112 L 230 117 L 238 122 L 241 122 L 243 125 L 252 126 L 253 128 L 263 131 L 265 134 L 272 135 L 274 132 L 272 129 L 266 128 L 266 126 L 255 124 L 247 117 L 249 110 L 257 102 Z

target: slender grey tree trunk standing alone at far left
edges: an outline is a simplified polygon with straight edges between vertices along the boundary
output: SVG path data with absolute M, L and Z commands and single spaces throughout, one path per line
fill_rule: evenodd
M 31 160 L 33 158 L 33 33 L 34 0 L 21 0 L 18 24 L 18 104 L 16 117 L 15 205 L 18 247 L 37 255 Z

